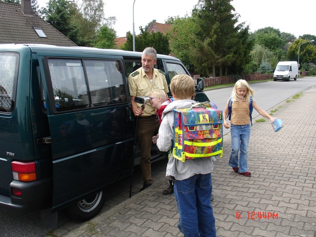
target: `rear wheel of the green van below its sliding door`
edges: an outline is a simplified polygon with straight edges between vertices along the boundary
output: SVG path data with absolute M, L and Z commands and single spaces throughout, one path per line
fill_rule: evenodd
M 87 221 L 96 216 L 105 202 L 105 193 L 100 191 L 91 194 L 66 209 L 67 214 L 74 220 Z

